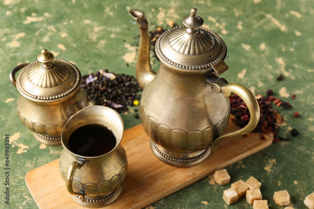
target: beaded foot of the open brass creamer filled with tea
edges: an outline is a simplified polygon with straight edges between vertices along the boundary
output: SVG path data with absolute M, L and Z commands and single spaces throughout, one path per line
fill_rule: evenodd
M 111 204 L 112 202 L 116 201 L 116 199 L 120 196 L 120 194 L 122 192 L 122 187 L 123 187 L 123 184 L 121 183 L 118 186 L 118 188 L 116 188 L 114 191 L 112 191 L 109 195 L 106 194 L 106 195 L 100 196 L 98 198 L 85 196 L 85 202 L 81 201 L 80 196 L 71 195 L 71 197 L 77 204 L 79 204 L 83 207 L 99 208 L 99 207 L 107 206 L 107 205 Z

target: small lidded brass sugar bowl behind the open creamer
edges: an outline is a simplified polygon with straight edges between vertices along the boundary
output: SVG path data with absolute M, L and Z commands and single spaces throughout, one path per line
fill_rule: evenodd
M 88 102 L 86 92 L 80 89 L 82 76 L 75 65 L 54 59 L 45 49 L 37 59 L 31 64 L 18 65 L 10 72 L 10 81 L 20 93 L 17 112 L 38 141 L 61 145 L 64 125 Z

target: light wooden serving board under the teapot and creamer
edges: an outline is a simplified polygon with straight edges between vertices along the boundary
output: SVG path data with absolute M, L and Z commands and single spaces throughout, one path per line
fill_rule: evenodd
M 238 127 L 231 121 L 226 132 Z M 167 165 L 157 159 L 149 147 L 149 137 L 142 124 L 126 130 L 122 145 L 127 153 L 128 172 L 123 182 L 121 196 L 104 208 L 143 208 L 204 177 L 213 174 L 247 156 L 254 154 L 273 142 L 273 135 L 261 140 L 257 133 L 249 137 L 224 139 L 216 154 L 190 168 Z M 59 159 L 29 171 L 25 176 L 27 188 L 39 208 L 83 209 L 68 194 L 59 171 Z

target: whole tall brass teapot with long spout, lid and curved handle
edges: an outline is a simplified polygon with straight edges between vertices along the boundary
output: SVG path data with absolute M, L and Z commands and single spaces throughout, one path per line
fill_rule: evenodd
M 202 28 L 198 10 L 183 18 L 157 39 L 160 59 L 157 74 L 150 66 L 148 21 L 145 13 L 130 9 L 140 29 L 136 65 L 143 89 L 140 119 L 149 135 L 153 153 L 163 162 L 190 167 L 216 152 L 222 139 L 251 132 L 259 121 L 256 98 L 245 86 L 219 78 L 229 69 L 225 42 L 215 32 Z M 246 127 L 224 133 L 230 117 L 227 97 L 240 96 L 251 119 Z

